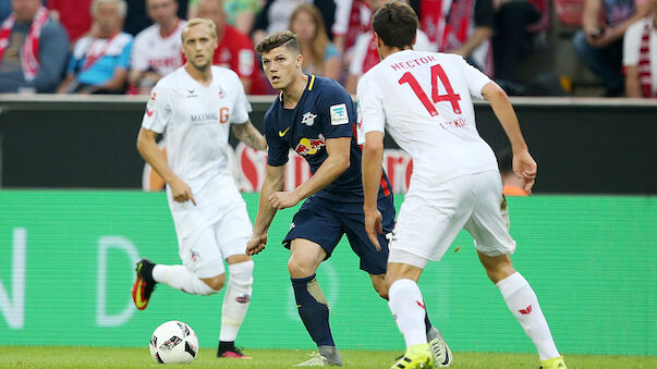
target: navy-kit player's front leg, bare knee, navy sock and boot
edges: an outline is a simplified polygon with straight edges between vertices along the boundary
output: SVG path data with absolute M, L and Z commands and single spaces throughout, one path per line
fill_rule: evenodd
M 299 366 L 341 366 L 342 358 L 329 325 L 328 300 L 315 278 L 315 271 L 327 254 L 318 244 L 303 238 L 292 239 L 290 251 L 288 269 L 299 316 L 319 352 Z

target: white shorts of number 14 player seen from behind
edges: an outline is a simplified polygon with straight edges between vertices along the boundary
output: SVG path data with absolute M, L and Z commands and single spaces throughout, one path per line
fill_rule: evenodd
M 499 172 L 467 174 L 435 185 L 412 180 L 394 226 L 388 262 L 409 263 L 393 249 L 440 260 L 462 229 L 485 255 L 515 251 Z

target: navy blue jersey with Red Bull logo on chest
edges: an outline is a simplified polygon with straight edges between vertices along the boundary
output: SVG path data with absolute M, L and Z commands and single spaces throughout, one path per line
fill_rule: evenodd
M 314 196 L 340 202 L 363 202 L 361 148 L 355 137 L 356 108 L 346 90 L 330 78 L 311 75 L 296 108 L 284 109 L 281 95 L 265 114 L 265 137 L 269 146 L 267 163 L 288 162 L 292 148 L 306 159 L 315 174 L 328 158 L 326 140 L 351 137 L 351 165 L 336 181 Z M 379 198 L 390 194 L 384 172 Z

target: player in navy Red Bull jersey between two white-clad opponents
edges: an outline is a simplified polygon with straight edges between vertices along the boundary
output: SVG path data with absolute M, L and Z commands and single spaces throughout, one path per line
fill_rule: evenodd
M 356 109 L 351 96 L 332 79 L 303 73 L 299 40 L 291 32 L 270 35 L 256 50 L 271 86 L 281 93 L 265 114 L 267 174 L 246 253 L 255 255 L 265 248 L 267 230 L 278 209 L 306 199 L 283 239 L 291 251 L 288 269 L 299 315 L 318 347 L 315 357 L 299 366 L 340 366 L 342 359 L 329 327 L 328 302 L 315 273 L 346 234 L 361 259 L 361 269 L 369 273 L 379 295 L 388 298 L 384 284 L 388 258 L 386 234 L 394 225 L 390 183 L 382 173 L 378 190 L 382 232 L 377 247 L 365 233 L 361 148 L 354 134 Z M 313 176 L 294 190 L 284 192 L 290 148 L 306 159 Z M 426 327 L 439 360 L 451 364 L 451 353 L 440 333 L 428 319 Z

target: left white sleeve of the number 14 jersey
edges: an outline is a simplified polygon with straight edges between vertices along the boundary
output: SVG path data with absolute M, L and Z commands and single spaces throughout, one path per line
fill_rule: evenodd
M 373 71 L 370 71 L 373 72 Z M 366 73 L 361 81 L 356 91 L 358 107 L 358 145 L 365 144 L 365 135 L 368 132 L 384 132 L 386 127 L 386 113 L 384 111 L 384 94 L 376 85 L 373 73 Z

